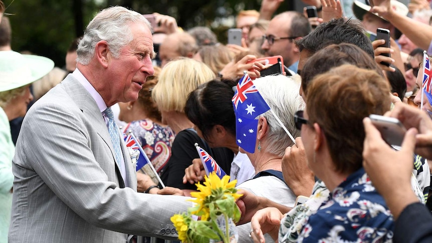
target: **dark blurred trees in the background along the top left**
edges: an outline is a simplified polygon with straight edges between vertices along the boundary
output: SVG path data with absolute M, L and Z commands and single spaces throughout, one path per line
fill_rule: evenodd
M 83 31 L 99 10 L 123 6 L 141 14 L 169 15 L 184 30 L 210 27 L 222 43 L 227 29 L 235 26 L 241 10 L 259 11 L 261 0 L 3 0 L 12 25 L 12 49 L 49 57 L 57 67 L 65 65 L 65 55 L 74 38 Z M 294 10 L 300 2 L 285 1 L 277 13 Z

